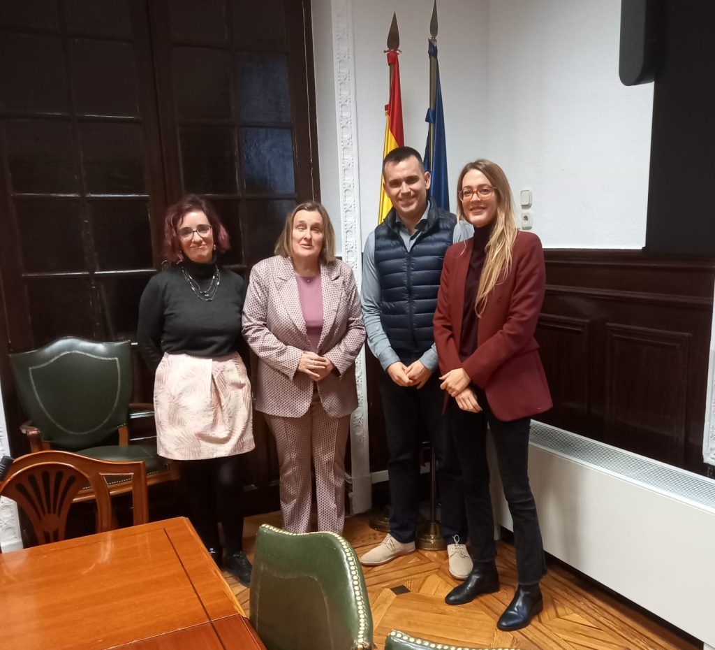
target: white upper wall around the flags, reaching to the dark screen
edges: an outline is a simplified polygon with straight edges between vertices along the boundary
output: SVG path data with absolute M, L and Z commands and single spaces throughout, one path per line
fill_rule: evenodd
M 320 182 L 340 215 L 330 9 L 314 0 Z M 376 225 L 388 100 L 385 60 L 400 26 L 405 144 L 423 151 L 432 0 L 353 0 L 362 240 Z M 438 49 L 451 201 L 465 162 L 490 157 L 534 193 L 548 248 L 645 243 L 653 86 L 618 80 L 619 0 L 439 0 Z M 468 79 L 468 82 L 466 81 Z M 454 209 L 454 205 L 452 208 Z

